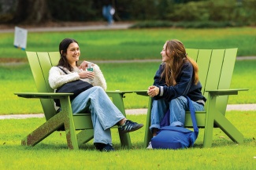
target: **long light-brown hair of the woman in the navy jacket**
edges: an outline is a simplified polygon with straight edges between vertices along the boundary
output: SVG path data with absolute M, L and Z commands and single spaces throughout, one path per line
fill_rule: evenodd
M 198 64 L 195 60 L 192 60 L 187 56 L 186 49 L 182 42 L 179 40 L 173 39 L 165 42 L 165 52 L 169 50 L 169 53 L 166 53 L 166 56 L 170 57 L 169 63 L 165 63 L 165 69 L 161 73 L 161 78 L 165 77 L 165 83 L 168 86 L 176 85 L 176 79 L 178 78 L 181 67 L 184 63 L 190 62 L 193 66 L 193 78 L 195 85 L 199 81 L 198 77 Z

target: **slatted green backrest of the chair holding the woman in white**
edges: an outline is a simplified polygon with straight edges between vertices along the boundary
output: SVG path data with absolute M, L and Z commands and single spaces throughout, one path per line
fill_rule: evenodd
M 38 92 L 54 92 L 50 88 L 48 77 L 50 67 L 56 66 L 59 52 L 26 52 Z M 46 120 L 56 114 L 54 99 L 40 99 Z

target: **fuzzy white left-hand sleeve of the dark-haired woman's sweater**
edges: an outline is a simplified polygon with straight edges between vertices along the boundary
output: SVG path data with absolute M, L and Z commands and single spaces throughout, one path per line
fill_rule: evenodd
M 67 71 L 69 74 L 65 74 L 58 67 L 51 67 L 49 71 L 49 84 L 52 89 L 58 89 L 61 85 L 64 85 L 70 81 L 76 81 L 80 79 L 78 73 L 71 73 Z

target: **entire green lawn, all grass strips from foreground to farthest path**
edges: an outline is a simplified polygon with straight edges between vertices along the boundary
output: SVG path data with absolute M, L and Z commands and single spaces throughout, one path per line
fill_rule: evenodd
M 0 61 L 26 60 L 24 51 L 13 48 L 13 34 L 0 34 Z M 78 31 L 61 33 L 28 33 L 28 51 L 58 51 L 61 39 L 70 37 L 80 42 L 82 59 L 132 60 L 161 58 L 165 40 L 178 38 L 186 48 L 239 48 L 238 56 L 256 55 L 255 31 L 252 27 L 224 29 L 142 29 L 128 31 Z M 153 82 L 155 63 L 99 63 L 108 90 L 147 89 Z M 230 96 L 228 103 L 256 103 L 254 69 L 256 60 L 236 61 L 231 88 L 247 88 Z M 39 99 L 23 99 L 13 92 L 35 92 L 28 63 L 0 65 L 0 114 L 42 113 Z M 147 98 L 128 94 L 126 108 L 146 108 Z M 54 132 L 34 147 L 20 146 L 20 140 L 44 118 L 0 120 L 0 169 L 254 169 L 256 165 L 256 111 L 228 111 L 228 120 L 243 133 L 244 143 L 233 143 L 219 128 L 213 130 L 213 146 L 202 148 L 202 134 L 195 147 L 187 150 L 146 150 L 143 148 L 145 127 L 130 133 L 132 149 L 121 148 L 117 130 L 113 129 L 113 153 L 95 150 L 93 142 L 68 150 L 64 132 Z M 146 115 L 128 115 L 145 125 Z

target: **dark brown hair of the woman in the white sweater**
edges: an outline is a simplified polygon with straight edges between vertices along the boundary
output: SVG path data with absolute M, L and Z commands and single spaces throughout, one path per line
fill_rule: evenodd
M 69 45 L 72 42 L 76 42 L 75 39 L 72 38 L 65 38 L 61 41 L 60 45 L 59 45 L 59 52 L 61 54 L 61 58 L 58 61 L 58 65 L 57 66 L 62 66 L 67 68 L 69 71 L 73 70 L 73 67 L 69 64 L 68 60 L 67 60 L 67 49 L 69 48 Z M 78 42 L 76 42 L 76 44 L 78 44 Z M 76 67 L 77 67 L 77 61 L 76 61 Z

